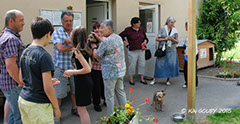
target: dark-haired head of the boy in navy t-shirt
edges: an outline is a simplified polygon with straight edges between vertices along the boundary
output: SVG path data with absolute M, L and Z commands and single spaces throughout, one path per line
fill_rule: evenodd
M 46 38 L 46 43 L 44 45 L 47 45 L 52 39 L 52 33 L 54 29 L 48 19 L 38 16 L 32 21 L 31 31 L 33 39 Z

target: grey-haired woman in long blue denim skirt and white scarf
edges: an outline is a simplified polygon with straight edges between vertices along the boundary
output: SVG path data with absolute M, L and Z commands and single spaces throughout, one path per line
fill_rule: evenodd
M 176 44 L 178 44 L 178 31 L 174 28 L 176 20 L 168 17 L 164 27 L 160 29 L 156 41 L 158 48 L 166 51 L 162 57 L 156 58 L 155 72 L 151 85 L 155 84 L 156 78 L 167 78 L 166 84 L 171 85 L 170 78 L 179 76 L 178 56 Z

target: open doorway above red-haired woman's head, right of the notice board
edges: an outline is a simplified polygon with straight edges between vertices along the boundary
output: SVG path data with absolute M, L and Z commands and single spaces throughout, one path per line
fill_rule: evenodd
M 87 0 L 87 32 L 91 33 L 92 25 L 111 19 L 111 0 Z

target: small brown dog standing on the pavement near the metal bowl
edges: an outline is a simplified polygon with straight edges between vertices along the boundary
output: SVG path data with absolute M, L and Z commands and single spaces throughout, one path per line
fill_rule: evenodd
M 153 102 L 152 105 L 155 105 L 155 111 L 157 111 L 157 104 L 160 105 L 161 111 L 163 110 L 163 106 L 164 106 L 164 97 L 165 97 L 166 93 L 165 92 L 161 92 L 161 91 L 156 91 L 153 95 Z

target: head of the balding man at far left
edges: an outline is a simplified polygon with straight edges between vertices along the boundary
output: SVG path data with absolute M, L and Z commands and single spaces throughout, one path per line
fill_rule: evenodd
M 24 16 L 19 10 L 9 10 L 5 14 L 5 27 L 8 27 L 16 32 L 21 32 L 24 26 Z

